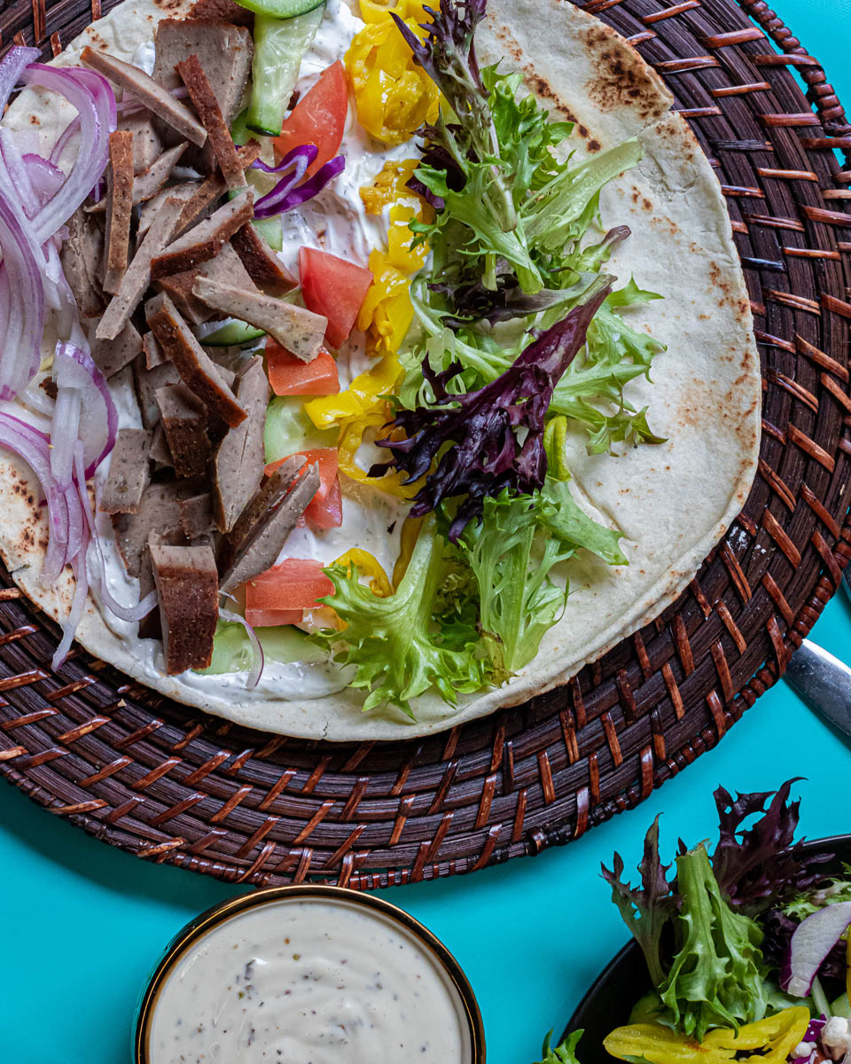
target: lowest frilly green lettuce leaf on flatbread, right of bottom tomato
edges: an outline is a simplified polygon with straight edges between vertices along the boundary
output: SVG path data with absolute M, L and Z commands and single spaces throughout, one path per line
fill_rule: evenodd
M 334 650 L 336 662 L 355 666 L 350 686 L 369 692 L 364 711 L 393 704 L 414 719 L 411 699 L 432 686 L 450 705 L 458 694 L 486 686 L 490 666 L 479 652 L 469 581 L 433 521 L 420 530 L 405 575 L 387 598 L 361 584 L 355 567 L 350 573 L 333 565 L 326 572 L 335 594 L 320 601 L 346 628 L 314 638 Z

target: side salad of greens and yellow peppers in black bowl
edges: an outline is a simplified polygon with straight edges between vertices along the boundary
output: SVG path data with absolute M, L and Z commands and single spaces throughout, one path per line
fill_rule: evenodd
M 637 886 L 603 866 L 633 941 L 541 1064 L 851 1064 L 851 835 L 795 842 L 795 782 L 719 787 L 717 842 L 671 864 L 656 818 Z

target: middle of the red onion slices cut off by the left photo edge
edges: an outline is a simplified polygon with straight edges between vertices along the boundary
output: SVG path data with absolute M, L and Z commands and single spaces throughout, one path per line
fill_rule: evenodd
M 14 399 L 26 388 L 41 361 L 45 289 L 37 248 L 21 228 L 15 210 L 0 193 L 0 399 Z

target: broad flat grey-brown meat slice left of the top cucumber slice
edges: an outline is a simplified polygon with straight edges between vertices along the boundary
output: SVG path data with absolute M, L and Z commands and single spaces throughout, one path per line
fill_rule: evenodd
M 178 65 L 189 55 L 198 56 L 224 121 L 230 126 L 251 73 L 254 46 L 249 31 L 244 26 L 215 17 L 164 18 L 156 27 L 154 47 L 154 80 L 169 89 L 181 83 Z

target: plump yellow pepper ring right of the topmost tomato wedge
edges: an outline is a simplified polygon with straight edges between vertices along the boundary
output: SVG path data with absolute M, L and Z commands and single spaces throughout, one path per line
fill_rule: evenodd
M 370 16 L 380 5 L 373 4 Z M 367 24 L 346 52 L 346 70 L 354 93 L 357 120 L 377 140 L 387 145 L 410 139 L 423 122 L 434 122 L 438 90 L 414 63 L 411 49 L 389 16 Z M 405 23 L 418 35 L 414 18 Z

